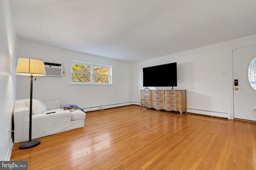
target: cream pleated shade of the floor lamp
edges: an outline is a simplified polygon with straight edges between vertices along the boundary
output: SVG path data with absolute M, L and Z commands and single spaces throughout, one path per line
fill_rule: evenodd
M 22 76 L 45 76 L 44 62 L 38 59 L 18 58 L 15 74 Z

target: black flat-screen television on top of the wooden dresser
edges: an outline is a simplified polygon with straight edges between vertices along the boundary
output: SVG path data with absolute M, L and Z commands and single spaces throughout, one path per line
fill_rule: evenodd
M 177 63 L 143 68 L 143 87 L 177 86 Z

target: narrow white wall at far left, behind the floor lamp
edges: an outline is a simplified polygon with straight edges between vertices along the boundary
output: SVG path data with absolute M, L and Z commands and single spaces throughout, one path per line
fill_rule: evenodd
M 16 99 L 16 33 L 9 0 L 0 1 L 0 160 L 10 160 L 13 102 Z

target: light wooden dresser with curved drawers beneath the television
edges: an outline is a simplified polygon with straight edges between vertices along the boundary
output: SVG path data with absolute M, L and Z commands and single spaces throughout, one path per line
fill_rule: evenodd
M 186 90 L 141 90 L 140 107 L 187 112 Z

